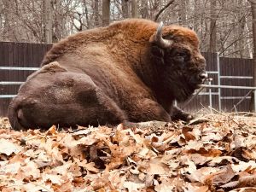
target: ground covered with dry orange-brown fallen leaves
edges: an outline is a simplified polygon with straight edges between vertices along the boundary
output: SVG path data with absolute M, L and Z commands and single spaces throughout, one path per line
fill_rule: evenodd
M 256 117 L 61 131 L 0 119 L 0 190 L 256 191 Z

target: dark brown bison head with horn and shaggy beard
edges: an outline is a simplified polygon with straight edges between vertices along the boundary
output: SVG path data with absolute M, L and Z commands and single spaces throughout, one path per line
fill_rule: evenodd
M 161 91 L 183 102 L 207 79 L 206 61 L 195 32 L 182 26 L 166 26 L 164 31 L 162 28 L 161 22 L 150 38 L 157 81 L 163 87 Z

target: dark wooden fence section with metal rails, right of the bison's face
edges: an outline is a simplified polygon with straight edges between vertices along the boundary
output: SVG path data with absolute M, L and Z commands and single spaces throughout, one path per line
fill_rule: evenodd
M 217 53 L 202 53 L 202 55 L 207 60 L 207 73 L 212 78 L 211 84 L 253 87 L 252 59 L 218 57 Z M 184 109 L 195 112 L 212 105 L 212 108 L 224 112 L 248 112 L 250 111 L 251 95 L 246 95 L 249 91 L 227 88 L 205 89 Z M 243 102 L 236 106 L 244 96 L 246 98 Z

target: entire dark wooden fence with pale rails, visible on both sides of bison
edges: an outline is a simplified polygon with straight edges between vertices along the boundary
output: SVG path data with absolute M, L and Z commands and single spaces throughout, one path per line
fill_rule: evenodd
M 9 102 L 17 94 L 20 84 L 39 67 L 51 44 L 26 44 L 0 42 L 0 116 L 6 116 Z M 253 61 L 218 57 L 215 53 L 203 53 L 207 60 L 207 73 L 212 84 L 253 86 Z M 15 83 L 16 82 L 16 83 Z M 11 83 L 11 84 L 10 84 Z M 248 90 L 206 89 L 184 108 L 195 112 L 212 105 L 212 108 L 230 111 Z M 250 96 L 236 107 L 237 111 L 249 111 Z M 182 105 L 182 104 L 181 104 Z

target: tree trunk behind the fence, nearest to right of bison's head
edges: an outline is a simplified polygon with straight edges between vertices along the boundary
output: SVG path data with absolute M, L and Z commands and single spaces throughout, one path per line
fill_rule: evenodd
M 210 19 L 210 31 L 209 31 L 209 47 L 208 52 L 215 53 L 216 50 L 216 38 L 217 38 L 217 30 L 216 30 L 216 21 L 217 21 L 217 15 L 216 15 L 216 0 L 212 0 L 210 7 L 211 7 L 211 19 Z

